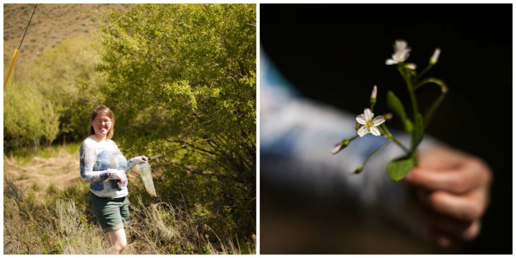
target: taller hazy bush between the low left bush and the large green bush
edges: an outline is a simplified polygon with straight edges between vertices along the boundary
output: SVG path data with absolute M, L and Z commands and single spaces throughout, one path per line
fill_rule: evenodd
M 91 39 L 66 39 L 54 49 L 45 49 L 28 77 L 59 110 L 62 141 L 86 137 L 90 112 L 100 98 L 96 87 L 102 76 L 94 69 L 98 58 Z

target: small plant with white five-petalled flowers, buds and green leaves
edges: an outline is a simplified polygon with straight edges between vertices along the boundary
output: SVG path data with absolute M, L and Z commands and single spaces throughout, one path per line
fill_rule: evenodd
M 424 79 L 422 78 L 426 72 L 428 72 L 434 65 L 436 65 L 439 59 L 439 55 L 441 54 L 441 50 L 439 48 L 433 52 L 427 67 L 421 73 L 416 72 L 415 63 L 405 62 L 405 60 L 407 60 L 407 58 L 410 55 L 410 51 L 411 49 L 410 47 L 408 47 L 407 42 L 405 40 L 396 40 L 394 44 L 394 54 L 392 54 L 392 58 L 389 58 L 385 61 L 385 65 L 396 65 L 399 73 L 401 74 L 401 77 L 405 80 L 405 83 L 407 84 L 407 90 L 409 92 L 410 100 L 412 103 L 412 119 L 407 116 L 404 105 L 392 91 L 387 92 L 387 105 L 389 109 L 391 109 L 391 111 L 394 112 L 394 114 L 400 118 L 404 130 L 407 133 L 411 134 L 411 146 L 410 148 L 405 147 L 389 132 L 389 129 L 385 125 L 385 122 L 391 119 L 391 114 L 374 117 L 373 107 L 376 104 L 377 96 L 377 87 L 375 85 L 373 87 L 373 92 L 371 93 L 371 98 L 369 100 L 369 108 L 365 108 L 364 113 L 357 116 L 356 118 L 357 135 L 342 140 L 340 143 L 336 145 L 336 147 L 332 151 L 332 154 L 337 154 L 338 152 L 346 148 L 352 140 L 358 137 L 363 137 L 364 135 L 369 133 L 375 136 L 383 136 L 385 138 L 388 138 L 388 140 L 385 141 L 385 143 L 380 148 L 378 148 L 377 150 L 369 154 L 369 156 L 367 156 L 362 165 L 359 166 L 353 172 L 355 174 L 360 173 L 364 169 L 364 166 L 367 163 L 367 161 L 371 157 L 376 155 L 378 152 L 380 152 L 383 148 L 385 148 L 385 146 L 387 146 L 391 142 L 394 142 L 399 148 L 401 148 L 405 152 L 404 156 L 392 160 L 387 165 L 387 173 L 389 174 L 389 177 L 392 180 L 399 181 L 403 179 L 405 175 L 407 175 L 407 173 L 414 166 L 417 165 L 417 146 L 423 140 L 425 128 L 430 122 L 433 113 L 436 111 L 437 107 L 444 100 L 444 97 L 448 92 L 448 87 L 441 79 L 434 77 L 428 77 Z M 433 104 L 430 106 L 430 108 L 426 111 L 425 115 L 423 116 L 420 113 L 420 110 L 417 106 L 415 91 L 426 84 L 438 85 L 441 88 L 441 94 L 438 96 L 436 100 L 434 100 Z

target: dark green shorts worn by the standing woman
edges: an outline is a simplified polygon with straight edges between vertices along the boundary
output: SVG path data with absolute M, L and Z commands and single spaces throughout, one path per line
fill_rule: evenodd
M 95 218 L 99 221 L 104 232 L 123 229 L 129 217 L 129 199 L 98 197 L 90 192 L 88 202 Z

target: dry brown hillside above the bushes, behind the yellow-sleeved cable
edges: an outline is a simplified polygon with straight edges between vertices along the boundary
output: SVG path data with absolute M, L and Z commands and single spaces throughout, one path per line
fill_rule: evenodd
M 91 37 L 92 24 L 102 10 L 123 11 L 123 4 L 39 4 L 23 41 L 18 62 L 36 59 L 46 47 L 54 48 L 67 38 Z M 4 4 L 4 63 L 11 60 L 34 10 L 34 4 Z

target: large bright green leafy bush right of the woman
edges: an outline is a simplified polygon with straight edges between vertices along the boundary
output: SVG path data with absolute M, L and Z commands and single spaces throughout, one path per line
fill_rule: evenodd
M 100 91 L 117 115 L 122 152 L 212 139 L 154 162 L 157 191 L 199 207 L 214 231 L 247 239 L 255 232 L 255 35 L 255 5 L 241 4 L 136 5 L 106 15 L 97 34 Z

